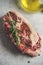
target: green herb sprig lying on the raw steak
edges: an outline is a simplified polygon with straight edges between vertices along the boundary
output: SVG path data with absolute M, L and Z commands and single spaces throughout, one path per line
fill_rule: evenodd
M 18 35 L 18 29 L 16 28 L 16 22 L 14 20 L 10 21 L 11 23 L 11 28 L 10 28 L 10 32 L 12 34 L 12 36 L 14 37 L 16 44 L 20 44 L 20 37 Z

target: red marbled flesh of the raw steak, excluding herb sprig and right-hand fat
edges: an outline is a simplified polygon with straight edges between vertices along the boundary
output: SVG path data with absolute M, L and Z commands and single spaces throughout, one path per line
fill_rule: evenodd
M 16 27 L 18 30 L 20 30 L 18 32 L 18 35 L 21 40 L 19 45 L 16 45 L 16 41 L 14 37 L 12 36 L 12 34 L 10 33 L 11 24 L 9 21 L 11 19 L 16 21 Z M 38 54 L 40 54 L 41 38 L 38 35 L 38 33 L 36 33 L 38 39 L 34 43 L 32 43 L 32 40 L 30 38 L 32 34 L 32 30 L 30 26 L 25 23 L 25 20 L 21 17 L 20 14 L 18 15 L 16 12 L 11 12 L 11 11 L 8 12 L 6 15 L 3 16 L 3 25 L 9 38 L 12 40 L 14 45 L 21 52 L 28 54 L 30 56 L 37 56 Z

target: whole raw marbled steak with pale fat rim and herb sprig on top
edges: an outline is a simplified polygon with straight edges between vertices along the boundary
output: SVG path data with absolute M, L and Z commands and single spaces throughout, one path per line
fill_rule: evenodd
M 20 13 L 9 11 L 5 14 L 3 26 L 9 38 L 21 52 L 30 56 L 40 54 L 41 38 Z

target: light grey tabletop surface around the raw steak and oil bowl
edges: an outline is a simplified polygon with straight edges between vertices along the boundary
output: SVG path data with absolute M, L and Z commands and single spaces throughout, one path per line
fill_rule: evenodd
M 15 0 L 0 0 L 0 17 L 10 10 L 17 10 L 32 24 L 42 38 L 41 55 L 29 57 L 22 54 L 7 38 L 0 20 L 0 65 L 43 65 L 43 13 L 26 13 L 15 4 Z M 28 64 L 27 61 L 30 61 Z

